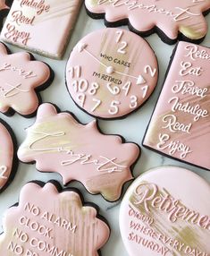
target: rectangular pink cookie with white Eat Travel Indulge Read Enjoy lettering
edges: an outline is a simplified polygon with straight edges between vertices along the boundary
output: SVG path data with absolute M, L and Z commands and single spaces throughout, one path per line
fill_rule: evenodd
M 143 145 L 210 170 L 210 49 L 180 42 Z

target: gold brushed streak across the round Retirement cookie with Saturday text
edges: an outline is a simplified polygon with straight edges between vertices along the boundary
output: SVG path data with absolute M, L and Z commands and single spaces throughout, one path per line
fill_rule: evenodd
M 142 181 L 139 184 L 142 184 L 142 183 L 148 184 L 147 181 Z M 166 192 L 166 190 L 159 188 L 159 190 L 155 194 L 155 197 L 156 196 L 160 197 L 161 194 L 163 194 L 164 192 Z M 171 198 L 173 198 L 170 192 L 167 192 L 167 194 Z M 147 194 L 147 197 L 149 196 L 150 195 Z M 139 213 L 142 215 L 145 215 L 149 218 L 154 218 L 154 222 L 152 223 L 151 226 L 148 226 L 147 223 L 143 223 L 139 220 L 139 222 L 142 223 L 142 225 L 147 226 L 148 228 L 152 228 L 157 234 L 166 235 L 167 237 L 171 237 L 172 240 L 178 240 L 180 243 L 185 243 L 186 246 L 189 245 L 191 248 L 195 248 L 196 246 L 197 250 L 201 252 L 205 251 L 206 244 L 203 243 L 202 235 L 204 234 L 209 235 L 208 230 L 206 229 L 201 230 L 201 227 L 199 227 L 198 225 L 192 225 L 192 224 L 186 223 L 186 221 L 182 219 L 177 219 L 175 223 L 172 223 L 168 219 L 168 214 L 162 210 L 155 209 L 154 207 L 152 207 L 150 201 L 147 201 L 147 205 L 150 209 L 149 212 L 145 209 L 143 203 L 137 205 L 135 204 L 135 201 L 137 201 L 137 195 L 133 192 L 130 195 L 130 203 L 132 204 L 132 208 L 137 209 Z M 186 207 L 184 203 L 181 201 L 179 201 L 179 205 L 182 207 Z M 170 249 L 170 252 L 172 253 L 172 255 L 176 255 L 176 256 L 185 255 L 184 253 L 178 252 L 177 250 L 175 250 L 169 244 L 164 244 L 162 241 L 159 241 L 159 240 L 155 240 L 155 241 L 162 243 L 164 246 Z

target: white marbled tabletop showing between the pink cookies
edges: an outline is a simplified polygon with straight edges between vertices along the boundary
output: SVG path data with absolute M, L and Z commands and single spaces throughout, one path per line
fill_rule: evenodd
M 206 20 L 208 21 L 210 27 L 210 14 L 206 16 Z M 88 17 L 84 6 L 82 6 L 80 17 L 77 21 L 75 30 L 73 31 L 73 34 L 71 36 L 71 41 L 63 57 L 63 60 L 56 61 L 45 58 L 40 55 L 35 55 L 35 57 L 38 60 L 43 60 L 47 64 L 50 64 L 52 69 L 55 71 L 54 82 L 46 90 L 41 92 L 43 102 L 53 102 L 58 107 L 60 107 L 62 111 L 71 111 L 79 118 L 80 122 L 83 124 L 88 123 L 93 118 L 82 112 L 80 108 L 76 107 L 76 105 L 71 100 L 71 97 L 67 92 L 64 81 L 65 64 L 67 62 L 69 54 L 71 53 L 72 47 L 75 46 L 75 44 L 80 40 L 80 38 L 84 37 L 93 30 L 98 30 L 104 27 L 105 25 L 103 20 L 92 20 Z M 124 28 L 127 29 L 126 27 Z M 155 107 L 155 102 L 162 88 L 164 81 L 164 73 L 166 71 L 170 56 L 172 55 L 172 49 L 174 47 L 167 46 L 156 35 L 148 37 L 147 41 L 155 50 L 155 55 L 157 56 L 159 61 L 160 74 L 155 92 L 147 100 L 147 103 L 143 107 L 139 108 L 139 111 L 127 116 L 125 119 L 116 121 L 98 121 L 98 124 L 103 132 L 107 134 L 121 134 L 126 141 L 134 141 L 139 145 L 141 145 L 142 138 L 146 131 L 149 118 L 152 114 L 152 111 Z M 202 42 L 201 45 L 210 47 L 210 28 L 206 39 Z M 17 47 L 9 46 L 9 48 L 12 50 L 12 52 L 21 51 Z M 13 115 L 13 117 L 6 117 L 0 114 L 0 118 L 4 119 L 8 124 L 11 125 L 11 127 L 13 128 L 13 132 L 15 132 L 19 145 L 21 144 L 21 141 L 24 140 L 26 135 L 24 128 L 29 127 L 29 125 L 34 124 L 35 122 L 35 117 L 26 119 L 18 114 Z M 176 160 L 172 160 L 171 158 L 164 158 L 163 156 L 149 149 L 145 149 L 142 146 L 140 147 L 142 150 L 141 157 L 139 158 L 139 161 L 133 170 L 133 175 L 135 177 L 141 175 L 143 172 L 155 166 L 175 165 L 189 168 L 190 170 L 196 172 L 198 175 L 201 175 L 207 181 L 210 182 L 210 172 L 200 169 L 198 167 L 183 164 Z M 209 156 L 206 157 L 209 158 Z M 0 232 L 3 231 L 1 224 L 2 218 L 4 216 L 4 210 L 18 201 L 21 187 L 31 180 L 40 180 L 43 182 L 47 182 L 50 179 L 55 179 L 62 183 L 60 175 L 39 173 L 36 170 L 35 165 L 26 165 L 20 163 L 13 183 L 11 183 L 10 186 L 0 194 Z M 126 191 L 126 188 L 129 184 L 130 183 L 127 183 L 124 186 L 123 193 Z M 83 194 L 85 201 L 97 203 L 97 205 L 101 209 L 100 214 L 103 215 L 108 220 L 108 223 L 111 227 L 111 236 L 108 243 L 106 243 L 103 249 L 101 250 L 102 256 L 127 256 L 128 253 L 126 252 L 123 246 L 118 225 L 118 215 L 121 201 L 111 203 L 105 201 L 101 195 L 91 195 L 85 190 L 82 184 L 78 182 L 70 183 L 69 187 L 79 188 L 80 192 Z

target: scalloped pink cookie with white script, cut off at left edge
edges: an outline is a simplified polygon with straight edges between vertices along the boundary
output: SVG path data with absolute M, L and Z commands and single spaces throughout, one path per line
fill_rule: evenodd
M 49 66 L 31 60 L 29 53 L 8 55 L 0 43 L 0 111 L 6 115 L 17 112 L 33 115 L 40 101 L 38 90 L 43 90 L 52 80 Z

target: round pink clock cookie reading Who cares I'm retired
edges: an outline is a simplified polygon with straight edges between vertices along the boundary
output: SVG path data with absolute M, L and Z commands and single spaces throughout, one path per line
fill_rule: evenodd
M 88 34 L 73 48 L 66 83 L 76 104 L 100 118 L 140 107 L 155 89 L 158 66 L 147 41 L 121 29 Z

